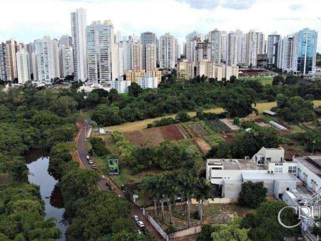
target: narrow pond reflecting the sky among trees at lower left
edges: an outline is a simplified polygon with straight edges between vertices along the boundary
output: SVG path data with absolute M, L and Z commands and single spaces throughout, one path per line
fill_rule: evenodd
M 48 173 L 49 157 L 48 154 L 40 151 L 32 151 L 25 156 L 29 172 L 28 180 L 40 186 L 41 198 L 45 202 L 46 218 L 55 217 L 57 219 L 57 227 L 62 231 L 63 236 L 59 241 L 66 240 L 65 231 L 67 225 L 64 224 L 63 214 L 64 206 L 59 187 L 56 185 L 58 181 Z

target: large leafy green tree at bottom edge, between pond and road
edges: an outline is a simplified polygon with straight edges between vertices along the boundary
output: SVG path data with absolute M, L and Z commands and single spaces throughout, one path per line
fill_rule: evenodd
M 124 219 L 128 220 L 130 203 L 118 198 L 116 193 L 103 190 L 94 191 L 78 199 L 74 205 L 77 206 L 77 211 L 67 227 L 68 240 L 97 240 L 114 231 L 118 232 L 119 229 L 127 232 L 133 228 L 130 221 L 124 221 L 121 228 L 119 222 Z M 129 226 L 125 226 L 126 224 Z

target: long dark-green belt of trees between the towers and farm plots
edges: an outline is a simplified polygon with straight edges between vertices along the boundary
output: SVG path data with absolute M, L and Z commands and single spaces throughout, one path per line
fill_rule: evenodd
M 289 77 L 284 84 L 262 85 L 257 80 L 186 81 L 159 84 L 157 90 L 136 89 L 129 94 L 93 90 L 86 101 L 96 106 L 92 119 L 101 126 L 140 121 L 179 111 L 192 111 L 215 106 L 223 107 L 231 116 L 243 117 L 253 111 L 256 101 L 274 101 L 278 94 L 288 98 L 321 99 L 321 81 L 304 82 Z

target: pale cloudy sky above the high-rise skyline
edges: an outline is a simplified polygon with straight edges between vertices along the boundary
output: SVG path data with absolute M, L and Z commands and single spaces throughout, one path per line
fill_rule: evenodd
M 0 0 L 0 42 L 29 43 L 71 34 L 70 13 L 87 11 L 87 24 L 110 19 L 122 36 L 171 33 L 182 44 L 194 30 L 251 29 L 282 36 L 303 28 L 321 32 L 320 0 Z M 321 52 L 321 37 L 317 51 Z

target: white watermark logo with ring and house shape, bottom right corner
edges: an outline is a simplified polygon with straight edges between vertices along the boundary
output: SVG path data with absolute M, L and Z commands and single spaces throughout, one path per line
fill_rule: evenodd
M 286 228 L 293 228 L 300 225 L 303 219 L 307 220 L 308 225 L 315 225 L 317 227 L 321 226 L 321 223 L 316 221 L 321 218 L 321 206 L 317 205 L 321 201 L 321 190 L 313 193 L 312 195 L 302 199 L 298 202 L 297 206 L 286 206 L 283 207 L 277 215 L 279 223 Z M 298 215 L 298 222 L 294 225 L 286 225 L 281 220 L 282 212 L 286 209 L 293 209 L 294 212 Z

